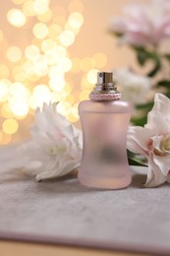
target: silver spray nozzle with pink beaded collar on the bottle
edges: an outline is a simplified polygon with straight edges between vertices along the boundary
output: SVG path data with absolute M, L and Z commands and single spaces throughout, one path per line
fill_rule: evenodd
M 89 94 L 91 100 L 116 100 L 121 98 L 120 92 L 115 87 L 116 83 L 113 81 L 112 72 L 98 72 L 97 84 L 93 91 Z

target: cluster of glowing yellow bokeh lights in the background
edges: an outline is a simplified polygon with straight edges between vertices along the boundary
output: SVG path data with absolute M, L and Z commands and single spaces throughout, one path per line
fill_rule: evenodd
M 6 12 L 11 36 L 21 32 L 27 45 L 13 45 L 0 30 L 3 58 L 0 62 L 0 144 L 16 142 L 25 136 L 24 124 L 33 118 L 43 102 L 58 101 L 58 111 L 69 121 L 79 119 L 79 101 L 87 98 L 107 58 L 102 52 L 92 56 L 71 56 L 69 47 L 84 25 L 84 4 L 70 0 L 66 8 L 50 0 L 8 0 Z M 7 1 L 7 2 L 8 2 Z M 10 5 L 9 5 L 10 6 Z M 17 31 L 16 31 L 17 30 Z M 17 32 L 17 33 L 16 33 Z M 16 34 L 15 34 L 16 33 Z M 26 39 L 26 38 L 25 38 Z M 79 88 L 73 76 L 81 74 Z

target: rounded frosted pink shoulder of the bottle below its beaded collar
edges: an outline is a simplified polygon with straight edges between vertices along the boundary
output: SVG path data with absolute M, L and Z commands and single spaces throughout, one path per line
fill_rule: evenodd
M 79 104 L 79 110 L 85 112 L 131 112 L 132 105 L 128 101 L 93 101 L 84 100 Z

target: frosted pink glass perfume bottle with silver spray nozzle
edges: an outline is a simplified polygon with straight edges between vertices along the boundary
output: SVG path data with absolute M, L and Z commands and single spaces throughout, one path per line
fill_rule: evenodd
M 131 183 L 126 144 L 132 107 L 120 98 L 113 74 L 98 72 L 89 100 L 79 105 L 84 149 L 78 178 L 85 186 L 121 189 Z

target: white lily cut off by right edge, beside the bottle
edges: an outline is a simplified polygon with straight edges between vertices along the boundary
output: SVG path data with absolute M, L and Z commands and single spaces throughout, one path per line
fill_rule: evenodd
M 154 105 L 144 127 L 131 126 L 128 149 L 148 160 L 145 186 L 158 186 L 170 180 L 170 99 L 161 94 L 154 97 Z

